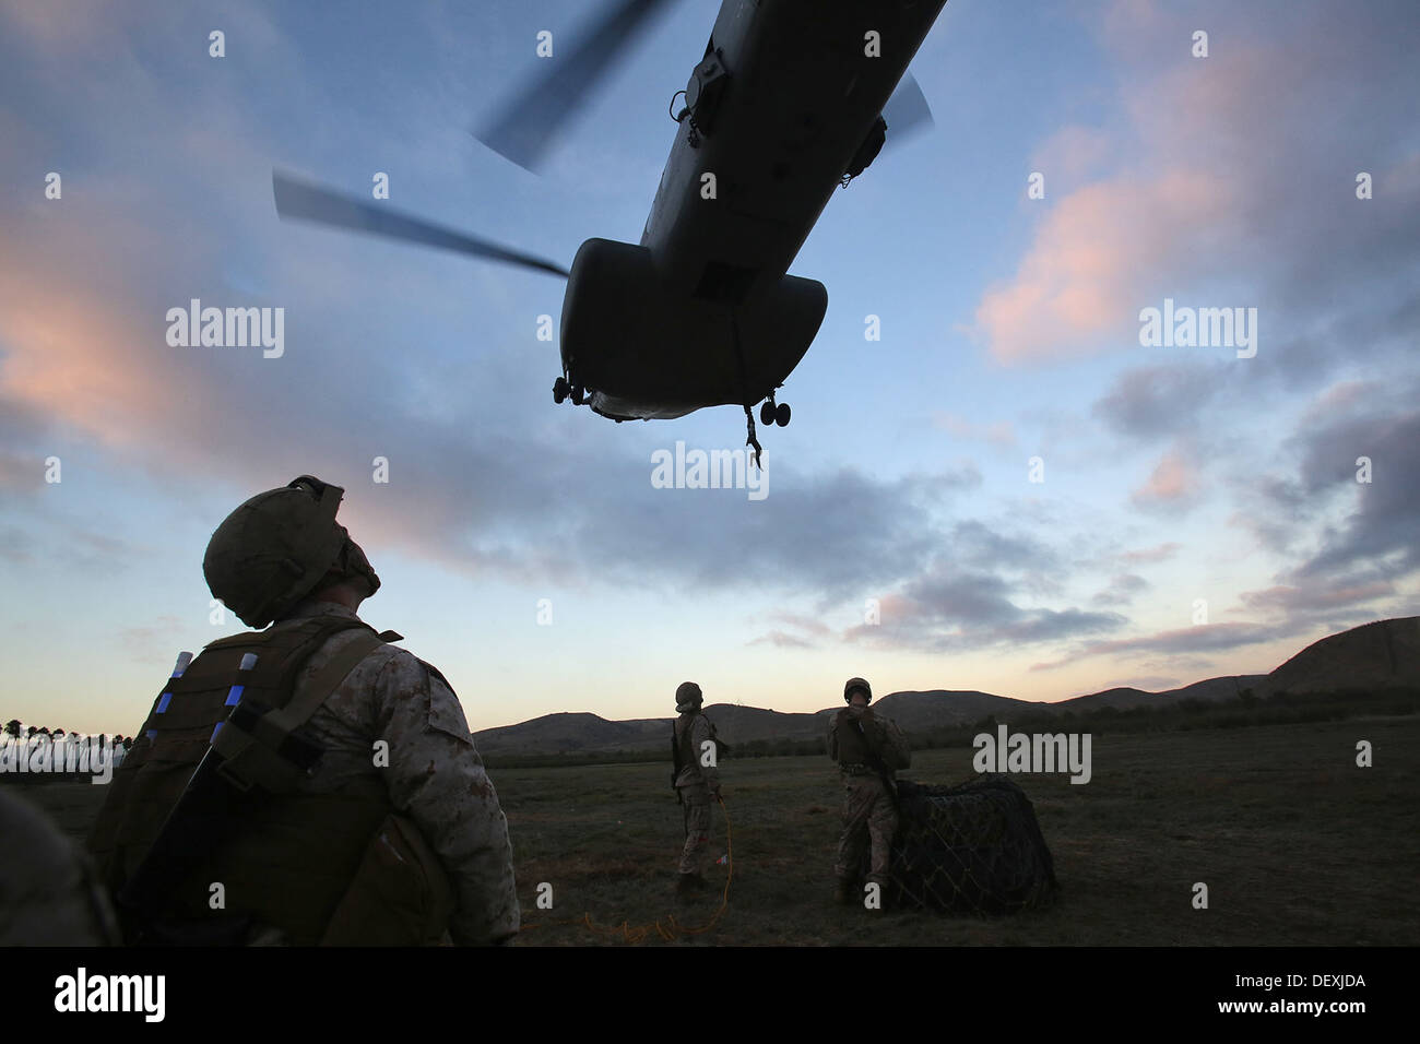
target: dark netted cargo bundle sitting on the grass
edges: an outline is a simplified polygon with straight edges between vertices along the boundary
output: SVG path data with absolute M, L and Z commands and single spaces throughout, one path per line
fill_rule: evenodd
M 892 881 L 899 906 L 1010 913 L 1049 903 L 1058 891 L 1035 808 L 1004 776 L 956 787 L 897 783 Z

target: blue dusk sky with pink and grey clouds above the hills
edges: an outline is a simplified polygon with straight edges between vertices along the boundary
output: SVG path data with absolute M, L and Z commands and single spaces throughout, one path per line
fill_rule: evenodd
M 362 618 L 473 729 L 665 717 L 687 679 L 784 712 L 855 675 L 1162 690 L 1420 612 L 1413 1 L 950 0 L 912 64 L 934 128 L 790 268 L 829 305 L 763 497 L 652 480 L 741 447 L 737 408 L 554 406 L 559 278 L 275 214 L 273 169 L 383 172 L 562 264 L 635 243 L 714 4 L 540 175 L 470 134 L 586 9 L 0 0 L 0 717 L 136 730 L 179 649 L 244 629 L 212 531 L 302 473 L 345 487 Z M 283 354 L 169 344 L 192 298 L 284 308 Z M 1142 344 L 1166 307 L 1255 338 Z

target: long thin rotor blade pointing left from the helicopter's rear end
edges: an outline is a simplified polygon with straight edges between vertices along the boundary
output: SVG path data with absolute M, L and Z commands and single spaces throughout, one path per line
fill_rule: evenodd
M 541 257 L 444 229 L 419 217 L 390 210 L 382 203 L 369 203 L 317 185 L 307 185 L 275 170 L 271 172 L 271 190 L 275 195 L 275 212 L 283 219 L 295 217 L 302 222 L 334 224 L 337 229 L 366 232 L 406 243 L 454 250 L 473 257 L 487 257 L 491 261 L 521 264 L 525 268 L 537 268 L 567 278 L 567 268 L 552 264 L 552 261 L 544 261 Z

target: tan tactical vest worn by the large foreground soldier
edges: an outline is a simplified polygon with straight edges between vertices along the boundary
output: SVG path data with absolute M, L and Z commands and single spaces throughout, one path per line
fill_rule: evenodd
M 362 631 L 359 638 L 294 699 L 298 673 L 311 655 L 352 628 Z M 356 619 L 314 616 L 219 639 L 180 676 L 169 679 L 141 737 L 114 773 L 89 837 L 99 874 L 114 893 L 153 845 L 210 746 L 227 758 L 223 774 L 237 790 L 256 785 L 264 797 L 243 804 L 240 822 L 187 875 L 166 916 L 179 922 L 214 919 L 212 885 L 220 882 L 227 916 L 250 915 L 281 929 L 295 945 L 410 945 L 430 942 L 430 933 L 437 937 L 443 926 L 422 922 L 447 920 L 452 889 L 417 830 L 393 815 L 381 780 L 352 780 L 339 794 L 297 793 L 304 773 L 275 750 L 382 638 Z M 257 660 L 250 670 L 240 670 L 246 653 L 256 653 Z M 227 720 L 239 700 L 274 713 L 258 720 L 254 734 L 243 732 Z M 393 888 L 388 874 L 372 882 L 369 874 L 382 868 L 406 876 Z M 352 909 L 352 902 L 359 909 Z M 365 928 L 376 935 L 361 935 Z

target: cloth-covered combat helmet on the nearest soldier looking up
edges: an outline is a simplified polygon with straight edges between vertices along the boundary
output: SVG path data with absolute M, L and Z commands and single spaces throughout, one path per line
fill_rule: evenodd
M 202 572 L 212 594 L 254 628 L 280 619 L 332 572 L 359 577 L 375 594 L 379 577 L 335 521 L 344 494 L 302 474 L 241 504 L 207 543 Z

